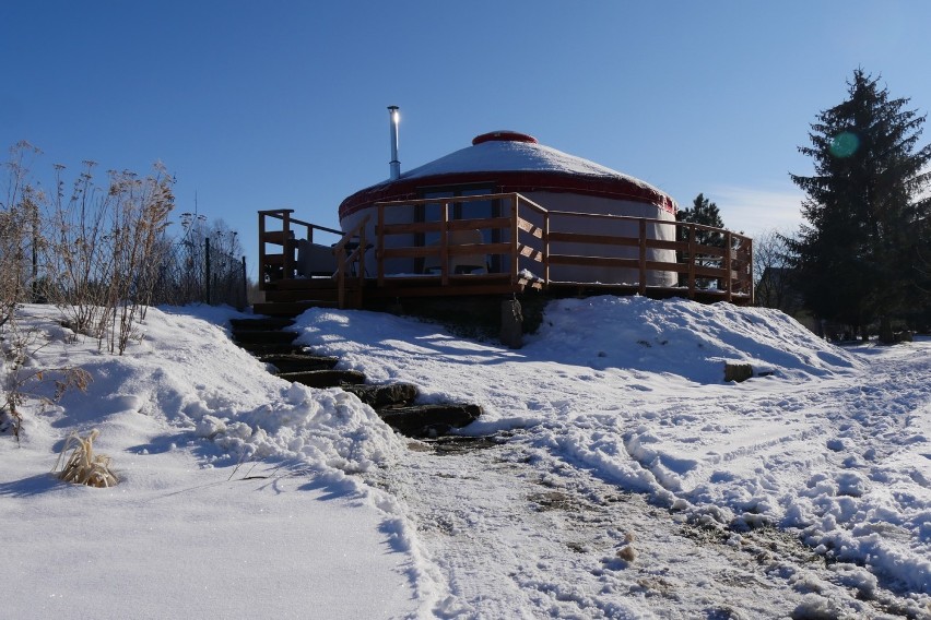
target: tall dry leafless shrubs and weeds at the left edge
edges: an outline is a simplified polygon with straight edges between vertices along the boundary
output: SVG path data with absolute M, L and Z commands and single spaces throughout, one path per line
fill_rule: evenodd
M 40 151 L 26 142 L 10 150 L 0 170 L 0 432 L 19 440 L 30 400 L 48 401 L 39 386 L 52 381 L 56 396 L 83 390 L 80 368 L 35 370 L 26 361 L 45 346 L 38 331 L 19 324 L 25 302 L 50 301 L 75 334 L 122 355 L 152 303 L 212 301 L 245 307 L 238 236 L 222 220 L 182 214 L 173 239 L 168 216 L 174 179 L 161 164 L 140 178 L 109 171 L 99 184 L 95 164 L 84 162 L 73 181 L 55 166 L 54 190 L 33 180 Z

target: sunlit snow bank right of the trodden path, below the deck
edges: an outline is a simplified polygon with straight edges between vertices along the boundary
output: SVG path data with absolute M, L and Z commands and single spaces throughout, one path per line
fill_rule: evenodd
M 710 527 L 798 528 L 852 567 L 841 585 L 882 580 L 928 610 L 927 341 L 867 355 L 779 312 L 636 297 L 552 303 L 518 351 L 365 313 L 313 311 L 302 326 L 303 343 L 376 381 L 481 403 L 472 433 L 519 429 Z M 726 360 L 771 374 L 727 384 Z

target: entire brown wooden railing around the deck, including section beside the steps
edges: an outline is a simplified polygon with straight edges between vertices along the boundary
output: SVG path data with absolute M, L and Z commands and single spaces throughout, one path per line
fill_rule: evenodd
M 500 215 L 453 217 L 458 205 L 471 202 L 497 204 L 496 213 Z M 427 205 L 438 207 L 439 216 L 431 216 L 429 222 L 416 222 L 415 211 L 425 210 Z M 554 269 L 565 272 L 564 267 L 608 267 L 627 270 L 626 273 L 636 274 L 636 278 L 631 283 L 604 284 L 626 286 L 641 295 L 650 288 L 650 274 L 674 273 L 675 284 L 664 288 L 682 289 L 690 298 L 695 298 L 698 293 L 714 293 L 727 300 L 735 296 L 752 299 L 753 296 L 753 241 L 730 230 L 649 217 L 547 210 L 519 193 L 379 202 L 375 207 L 374 239 L 370 237 L 370 215 L 360 220 L 352 230 L 343 233 L 296 219 L 290 208 L 260 211 L 261 288 L 268 288 L 276 279 L 296 277 L 296 231 L 308 241 L 314 240 L 315 231 L 320 231 L 339 236 L 339 241 L 332 246 L 337 257 L 333 276 L 342 308 L 350 301 L 356 307 L 362 305 L 365 259 L 370 248 L 375 250 L 379 288 L 385 287 L 389 278 L 404 276 L 425 278 L 422 281 L 425 285 L 435 282 L 440 286 L 467 281 L 472 283 L 475 282 L 473 278 L 483 277 L 496 282 L 505 277 L 505 282 L 512 286 L 527 282 L 542 287 L 597 285 L 599 283 L 593 281 L 554 279 Z M 271 220 L 278 224 L 275 229 L 270 229 L 274 226 Z M 618 233 L 620 229 L 625 233 Z M 481 231 L 482 242 L 451 239 L 457 231 L 464 230 Z M 663 234 L 659 234 L 660 230 Z M 702 231 L 716 235 L 719 241 L 715 245 L 698 243 Z M 427 236 L 435 236 L 436 241 L 425 242 Z M 282 251 L 269 253 L 266 245 L 278 246 Z M 569 253 L 566 248 L 580 250 Z M 624 248 L 629 251 L 623 251 Z M 457 260 L 475 255 L 495 258 L 496 269 L 487 270 L 493 273 L 451 273 L 450 265 Z M 424 275 L 425 262 L 435 264 L 438 273 Z M 406 266 L 390 271 L 389 265 L 398 264 Z M 415 269 L 415 265 L 421 269 Z M 351 290 L 356 294 L 352 300 L 347 298 Z

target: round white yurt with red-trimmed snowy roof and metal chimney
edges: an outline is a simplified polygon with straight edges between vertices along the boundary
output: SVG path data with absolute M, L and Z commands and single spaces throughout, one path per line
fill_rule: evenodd
M 392 136 L 397 141 L 397 134 Z M 553 212 L 551 229 L 561 229 L 585 235 L 636 238 L 640 223 L 624 218 L 573 217 L 570 214 L 599 214 L 648 218 L 647 238 L 675 240 L 675 227 L 663 224 L 674 222 L 675 201 L 659 189 L 601 166 L 588 159 L 569 155 L 540 142 L 526 133 L 493 131 L 472 140 L 472 144 L 419 168 L 400 171 L 397 151 L 392 152 L 391 178 L 361 190 L 346 198 L 339 210 L 340 226 L 352 230 L 362 219 L 369 216 L 366 238 L 375 239 L 377 207 L 385 201 L 414 201 L 423 199 L 448 199 L 517 192 L 545 210 Z M 452 204 L 450 218 L 478 219 L 508 216 L 510 203 L 503 200 L 484 200 Z M 439 217 L 439 202 L 420 203 L 417 208 L 387 210 L 385 223 L 431 222 Z M 500 237 L 507 231 L 484 230 L 487 243 L 506 241 Z M 387 242 L 402 245 L 429 245 L 436 242 L 431 235 L 412 236 L 410 239 L 393 239 Z M 387 247 L 387 246 L 386 246 Z M 605 258 L 636 258 L 636 247 L 623 245 L 599 245 L 598 248 L 578 247 L 573 242 L 554 242 L 551 252 L 563 255 L 597 255 Z M 675 251 L 650 248 L 650 262 L 674 263 Z M 375 269 L 375 257 L 366 259 L 367 269 Z M 488 273 L 507 267 L 500 257 L 487 263 Z M 389 273 L 423 273 L 424 261 L 394 259 L 387 265 Z M 638 281 L 638 272 L 631 269 L 600 265 L 554 265 L 550 271 L 553 282 L 632 284 Z M 648 286 L 675 286 L 676 274 L 668 271 L 647 273 Z

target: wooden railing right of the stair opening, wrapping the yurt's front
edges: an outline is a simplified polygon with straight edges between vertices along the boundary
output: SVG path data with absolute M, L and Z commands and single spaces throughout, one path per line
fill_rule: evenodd
M 450 217 L 453 205 L 478 201 L 500 201 L 503 214 L 499 217 L 453 219 Z M 389 214 L 398 210 L 414 210 L 419 206 L 438 205 L 439 217 L 432 222 L 412 222 L 411 216 L 402 217 L 404 223 L 388 223 Z M 509 208 L 505 208 L 509 205 Z M 529 270 L 542 281 L 543 286 L 551 284 L 567 284 L 568 281 L 556 281 L 551 276 L 553 266 L 579 267 L 612 267 L 632 270 L 637 274 L 637 291 L 645 294 L 648 285 L 648 274 L 672 272 L 676 274 L 676 285 L 672 288 L 687 290 L 688 297 L 694 298 L 696 291 L 717 291 L 728 300 L 733 296 L 753 295 L 753 254 L 751 238 L 726 229 L 719 229 L 700 224 L 669 222 L 648 217 L 629 217 L 604 215 L 596 213 L 576 213 L 547 210 L 519 193 L 486 194 L 474 196 L 455 196 L 441 199 L 422 199 L 412 201 L 392 201 L 376 203 L 378 219 L 376 226 L 376 260 L 378 264 L 378 285 L 385 286 L 386 278 L 393 274 L 386 272 L 386 263 L 393 259 L 426 259 L 433 258 L 440 267 L 439 281 L 447 286 L 455 274 L 449 273 L 450 259 L 461 255 L 488 254 L 498 255 L 500 273 L 510 275 L 511 283 L 522 277 L 521 262 L 537 265 Z M 604 228 L 604 234 L 588 234 L 575 231 L 568 222 L 584 222 L 596 229 Z M 636 235 L 620 235 L 611 233 L 611 227 L 631 223 L 637 230 Z M 559 229 L 555 229 L 557 227 Z M 669 227 L 671 237 L 657 238 L 649 235 Z M 576 228 L 577 229 L 577 228 Z M 492 235 L 498 240 L 494 242 L 452 245 L 449 236 L 457 230 L 497 230 Z M 698 243 L 698 231 L 714 233 L 720 239 L 721 246 Z M 401 236 L 425 236 L 438 234 L 438 241 L 432 245 L 400 245 L 397 239 Z M 393 242 L 389 239 L 394 239 Z M 554 245 L 567 243 L 587 248 L 585 253 L 555 253 Z M 604 255 L 617 248 L 633 248 L 635 257 Z M 598 248 L 606 248 L 598 252 Z M 675 252 L 675 260 L 655 260 L 657 252 L 651 250 L 669 250 Z M 653 257 L 651 259 L 651 255 Z M 507 265 L 507 267 L 505 267 Z M 481 277 L 480 275 L 469 277 Z M 574 284 L 578 284 L 573 282 Z M 714 283 L 714 286 L 711 284 Z M 585 284 L 585 283 L 581 283 Z M 593 283 L 592 283 L 593 284 Z

